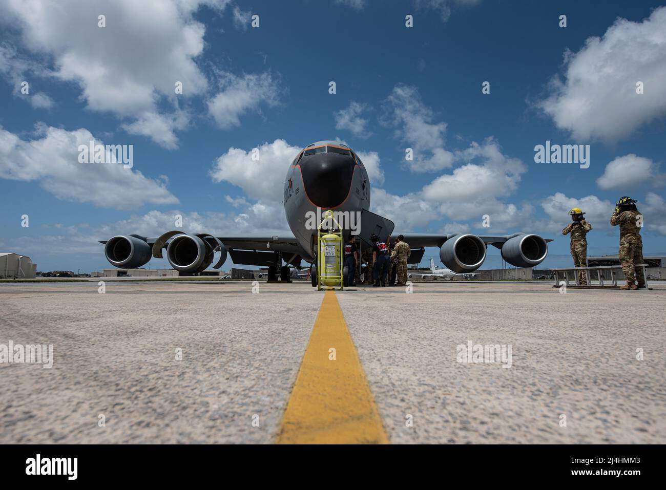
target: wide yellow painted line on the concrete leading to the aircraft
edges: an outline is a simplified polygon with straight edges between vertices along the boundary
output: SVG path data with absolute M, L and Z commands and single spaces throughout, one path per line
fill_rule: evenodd
M 334 291 L 326 291 L 278 444 L 388 443 Z

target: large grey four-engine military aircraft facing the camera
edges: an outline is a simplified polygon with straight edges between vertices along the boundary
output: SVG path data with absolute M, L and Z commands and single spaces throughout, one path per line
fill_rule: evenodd
M 394 233 L 394 223 L 370 212 L 370 180 L 358 154 L 340 142 L 319 141 L 308 144 L 291 162 L 284 182 L 284 212 L 292 236 L 212 236 L 187 234 L 172 230 L 147 238 L 138 234 L 118 235 L 105 244 L 107 260 L 118 268 L 139 268 L 151 256 L 166 258 L 183 274 L 198 274 L 208 268 L 216 252 L 214 268 L 220 268 L 227 254 L 234 264 L 268 266 L 268 280 L 289 280 L 289 266 L 310 267 L 312 284 L 316 284 L 317 229 L 309 226 L 308 216 L 321 212 L 360 213 L 358 237 L 362 246 L 370 246 L 370 235 L 386 240 Z M 356 216 L 356 215 L 355 215 Z M 515 233 L 506 236 L 460 234 L 420 234 L 401 232 L 412 248 L 410 264 L 421 262 L 425 247 L 438 247 L 440 259 L 450 270 L 468 273 L 486 260 L 488 245 L 501 250 L 502 258 L 516 267 L 537 266 L 548 253 L 541 236 Z

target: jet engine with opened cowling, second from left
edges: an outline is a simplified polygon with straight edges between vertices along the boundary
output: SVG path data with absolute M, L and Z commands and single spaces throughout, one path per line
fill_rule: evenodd
M 220 250 L 220 260 L 216 264 L 219 268 L 226 260 L 226 248 L 214 236 L 208 234 L 176 235 L 166 247 L 166 258 L 171 266 L 180 272 L 197 274 L 212 263 L 216 250 Z

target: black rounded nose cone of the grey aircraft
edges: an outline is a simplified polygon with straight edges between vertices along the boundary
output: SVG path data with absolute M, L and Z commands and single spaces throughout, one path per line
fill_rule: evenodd
M 344 202 L 354 176 L 354 159 L 336 153 L 315 154 L 301 158 L 303 185 L 312 204 L 334 208 Z

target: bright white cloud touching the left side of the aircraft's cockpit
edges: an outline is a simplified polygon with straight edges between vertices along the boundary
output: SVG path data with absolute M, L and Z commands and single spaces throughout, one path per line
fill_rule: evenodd
M 265 202 L 282 203 L 282 182 L 289 164 L 302 147 L 291 146 L 285 140 L 274 140 L 257 147 L 258 160 L 252 159 L 252 149 L 229 148 L 220 156 L 210 176 L 214 182 L 229 182 L 242 188 L 248 197 Z

